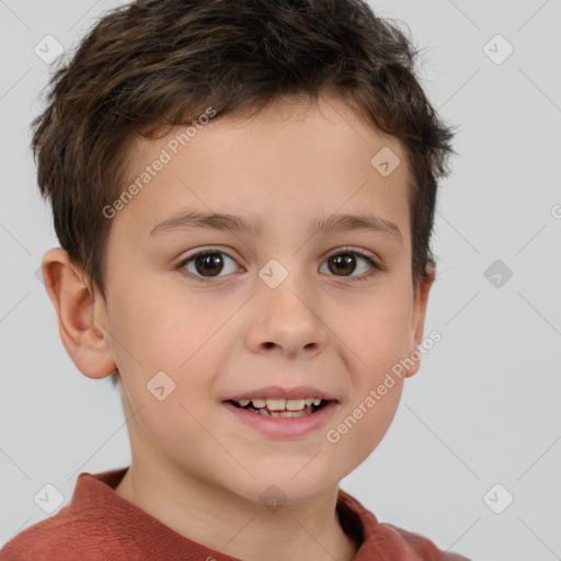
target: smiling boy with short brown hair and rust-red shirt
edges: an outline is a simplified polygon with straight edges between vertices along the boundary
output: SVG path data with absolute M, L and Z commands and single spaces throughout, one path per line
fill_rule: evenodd
M 453 134 L 412 62 L 359 0 L 138 0 L 57 71 L 45 285 L 133 460 L 2 561 L 466 559 L 339 489 L 426 342 Z

